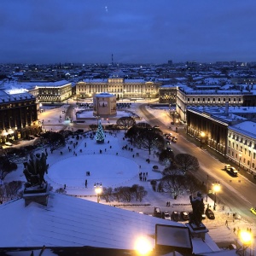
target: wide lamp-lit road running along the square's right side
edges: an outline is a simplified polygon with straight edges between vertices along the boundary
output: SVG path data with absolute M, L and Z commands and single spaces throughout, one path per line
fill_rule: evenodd
M 145 106 L 146 104 L 140 106 L 139 114 L 151 125 L 159 125 L 160 130 L 164 133 L 170 132 L 170 129 L 160 119 L 149 113 Z M 172 133 L 175 132 L 172 131 Z M 241 175 L 231 177 L 224 171 L 224 163 L 214 158 L 204 148 L 190 143 L 185 136 L 179 134 L 177 143 L 172 143 L 172 148 L 175 154 L 186 153 L 197 157 L 201 168 L 195 172 L 195 177 L 208 184 L 208 189 L 211 189 L 212 183 L 216 181 L 221 184 L 221 191 L 216 195 L 217 203 L 221 201 L 222 204 L 230 208 L 230 211 L 237 212 L 241 218 L 247 219 L 250 223 L 255 223 L 255 216 L 249 211 L 250 207 L 256 206 L 254 183 Z

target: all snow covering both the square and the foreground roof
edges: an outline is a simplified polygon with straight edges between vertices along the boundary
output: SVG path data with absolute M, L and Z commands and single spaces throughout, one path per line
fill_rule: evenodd
M 132 108 L 129 110 L 139 114 L 139 110 L 137 109 L 138 104 L 139 103 L 132 103 Z M 55 113 L 59 113 L 62 108 L 64 107 L 50 109 L 44 112 L 52 113 L 50 116 L 53 118 L 49 118 L 49 115 L 48 118 L 49 124 L 51 125 L 49 127 L 54 131 L 60 129 L 60 124 L 57 124 L 58 121 L 56 120 L 58 119 L 55 118 Z M 67 106 L 65 108 L 67 108 Z M 154 113 L 164 124 L 170 124 L 168 111 L 152 108 L 148 108 L 148 111 Z M 41 116 L 39 116 L 39 119 L 44 117 L 44 113 L 40 113 Z M 92 112 L 86 113 L 92 115 Z M 146 120 L 142 119 L 141 121 Z M 95 120 L 90 120 L 90 122 L 95 123 Z M 45 122 L 45 129 L 48 129 L 46 123 L 47 122 Z M 67 125 L 67 129 L 72 125 L 67 123 L 67 121 L 63 122 L 63 124 Z M 88 125 L 87 121 L 86 125 Z M 84 128 L 82 124 L 81 128 Z M 161 211 L 170 213 L 174 209 L 178 212 L 191 211 L 190 206 L 178 208 L 172 206 L 173 204 L 189 205 L 189 195 L 180 195 L 177 201 L 175 201 L 170 195 L 153 191 L 149 181 L 161 177 L 160 172 L 154 172 L 152 170 L 154 165 L 160 166 L 154 154 L 148 155 L 148 152 L 143 149 L 133 148 L 131 144 L 124 139 L 123 131 L 116 134 L 113 133 L 112 135 L 109 132 L 105 132 L 105 135 L 105 143 L 103 144 L 98 144 L 95 138 L 90 139 L 90 137 L 87 136 L 79 139 L 76 148 L 73 148 L 73 144 L 67 143 L 65 148 L 55 150 L 53 154 L 49 153 L 47 159 L 49 172 L 45 175 L 45 179 L 50 183 L 54 191 L 55 189 L 63 188 L 64 184 L 66 184 L 67 195 L 75 195 L 76 197 L 81 197 L 83 200 L 75 198 L 74 196 L 51 193 L 48 207 L 38 206 L 36 203 L 25 207 L 23 200 L 4 203 L 0 206 L 0 218 L 5 219 L 2 223 L 2 229 L 7 230 L 7 233 L 5 233 L 4 236 L 0 235 L 1 247 L 41 246 L 42 241 L 50 245 L 81 246 L 82 244 L 84 245 L 84 240 L 79 241 L 79 239 L 85 239 L 88 241 L 88 244 L 92 246 L 104 247 L 105 244 L 110 247 L 131 248 L 132 245 L 129 242 L 131 242 L 131 238 L 135 236 L 133 233 L 135 232 L 134 230 L 136 230 L 136 232 L 142 230 L 143 234 L 149 236 L 149 234 L 152 235 L 154 233 L 152 228 L 154 224 L 166 224 L 166 222 L 168 224 L 167 220 L 146 215 L 153 214 L 154 207 L 160 207 Z M 76 139 L 69 138 L 69 142 L 74 142 L 74 140 Z M 84 143 L 86 143 L 86 147 Z M 125 145 L 133 148 L 133 150 L 122 149 Z M 72 152 L 68 152 L 67 147 L 71 147 L 73 149 Z M 80 149 L 82 152 L 80 152 Z M 99 153 L 100 149 L 102 149 L 102 154 Z M 41 152 L 40 150 L 41 149 L 38 149 L 39 153 Z M 74 150 L 77 156 L 73 154 Z M 60 154 L 60 152 L 63 154 Z M 139 156 L 137 156 L 137 153 Z M 149 164 L 146 162 L 148 158 L 150 159 Z M 4 182 L 7 183 L 13 180 L 26 181 L 22 167 L 23 165 L 20 164 L 18 170 L 11 172 L 4 179 Z M 163 169 L 164 166 L 160 166 L 160 170 Z M 90 172 L 90 176 L 86 176 L 86 172 Z M 139 172 L 148 172 L 148 180 L 146 182 L 139 180 Z M 88 180 L 87 188 L 84 187 L 85 179 Z M 103 187 L 113 188 L 117 186 L 131 186 L 137 183 L 148 191 L 148 195 L 143 198 L 142 202 L 131 202 L 133 204 L 132 206 L 130 203 L 106 203 L 103 200 L 100 201 L 100 204 L 97 204 L 94 183 L 102 183 Z M 166 207 L 166 201 L 171 201 L 171 207 Z M 208 203 L 211 207 L 213 206 L 213 202 L 210 198 L 208 198 Z M 107 206 L 119 206 L 120 204 L 122 204 L 125 210 L 119 209 L 118 207 Z M 148 204 L 149 206 L 147 206 Z M 102 205 L 105 205 L 105 207 L 103 208 Z M 18 216 L 17 212 L 19 212 Z M 145 214 L 137 214 L 137 212 L 144 212 Z M 243 219 L 233 220 L 230 209 L 223 209 L 221 206 L 218 206 L 214 213 L 216 219 L 205 219 L 203 220 L 203 224 L 207 226 L 209 230 L 208 234 L 215 242 L 235 243 L 237 231 L 233 232 L 234 227 L 236 227 L 236 230 L 237 227 L 240 227 L 240 229 L 250 227 L 253 232 L 256 230 L 255 224 L 247 224 Z M 121 218 L 120 221 L 119 218 Z M 226 219 L 229 223 L 228 226 L 224 224 Z M 90 226 L 91 223 L 93 223 L 93 227 Z M 102 229 L 104 225 L 108 224 L 111 226 L 111 229 L 113 229 L 112 231 L 108 230 L 110 233 L 107 231 L 106 233 Z M 172 224 L 183 225 L 174 222 L 172 222 Z M 83 235 L 77 234 L 81 231 L 79 228 L 80 225 L 82 226 L 82 230 L 84 230 L 82 232 Z M 24 230 L 24 232 L 22 232 L 22 230 Z M 123 230 L 127 233 L 125 237 L 123 237 L 123 239 L 120 238 L 120 241 L 112 241 L 111 237 L 114 236 L 113 234 L 115 234 L 116 239 L 118 239 L 119 236 L 123 236 Z M 13 236 L 14 232 L 15 236 Z M 100 238 L 99 234 L 101 234 Z M 71 236 L 73 236 L 73 239 L 70 240 Z M 96 237 L 94 238 L 94 236 Z M 211 241 L 210 236 L 207 236 L 209 241 Z M 10 237 L 12 237 L 11 240 L 9 240 Z M 101 242 L 99 243 L 99 241 Z M 196 239 L 194 239 L 193 242 L 195 241 Z M 151 242 L 154 244 L 154 239 L 152 239 Z M 210 244 L 210 247 L 214 250 L 218 249 L 214 243 L 210 242 Z

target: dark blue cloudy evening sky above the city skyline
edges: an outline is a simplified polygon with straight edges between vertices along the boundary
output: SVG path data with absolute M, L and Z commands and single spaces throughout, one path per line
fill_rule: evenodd
M 256 61 L 255 0 L 1 0 L 0 62 Z

